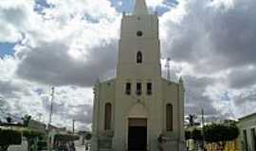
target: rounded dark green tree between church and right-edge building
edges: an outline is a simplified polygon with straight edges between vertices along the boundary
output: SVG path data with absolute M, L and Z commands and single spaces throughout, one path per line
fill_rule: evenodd
M 235 140 L 239 135 L 239 129 L 235 124 L 212 124 L 205 126 L 205 141 L 207 143 L 216 143 L 220 150 L 225 149 L 229 141 Z

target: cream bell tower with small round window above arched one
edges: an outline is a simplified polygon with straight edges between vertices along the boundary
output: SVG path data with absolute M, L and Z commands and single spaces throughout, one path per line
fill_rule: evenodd
M 160 77 L 158 18 L 144 0 L 137 0 L 132 15 L 123 13 L 119 40 L 118 78 Z

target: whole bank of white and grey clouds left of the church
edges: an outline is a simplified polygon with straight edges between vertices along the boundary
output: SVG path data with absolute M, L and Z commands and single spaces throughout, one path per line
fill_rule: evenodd
M 6 110 L 47 122 L 54 85 L 58 91 L 53 124 L 63 126 L 63 121 L 75 119 L 77 126 L 90 129 L 91 87 L 116 65 L 116 9 L 105 0 L 48 0 L 44 6 L 33 0 L 4 1 L 0 16 L 5 26 L 1 33 L 7 33 L 0 42 L 16 42 L 15 54 L 0 59 L 0 94 L 9 104 Z

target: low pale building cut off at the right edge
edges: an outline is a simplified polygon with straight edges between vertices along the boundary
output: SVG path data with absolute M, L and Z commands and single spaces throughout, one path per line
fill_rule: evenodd
M 241 150 L 256 151 L 256 113 L 239 119 Z

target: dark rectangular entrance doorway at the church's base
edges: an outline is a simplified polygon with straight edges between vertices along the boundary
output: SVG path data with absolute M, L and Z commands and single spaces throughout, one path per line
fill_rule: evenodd
M 130 118 L 128 128 L 128 150 L 147 150 L 147 119 Z

